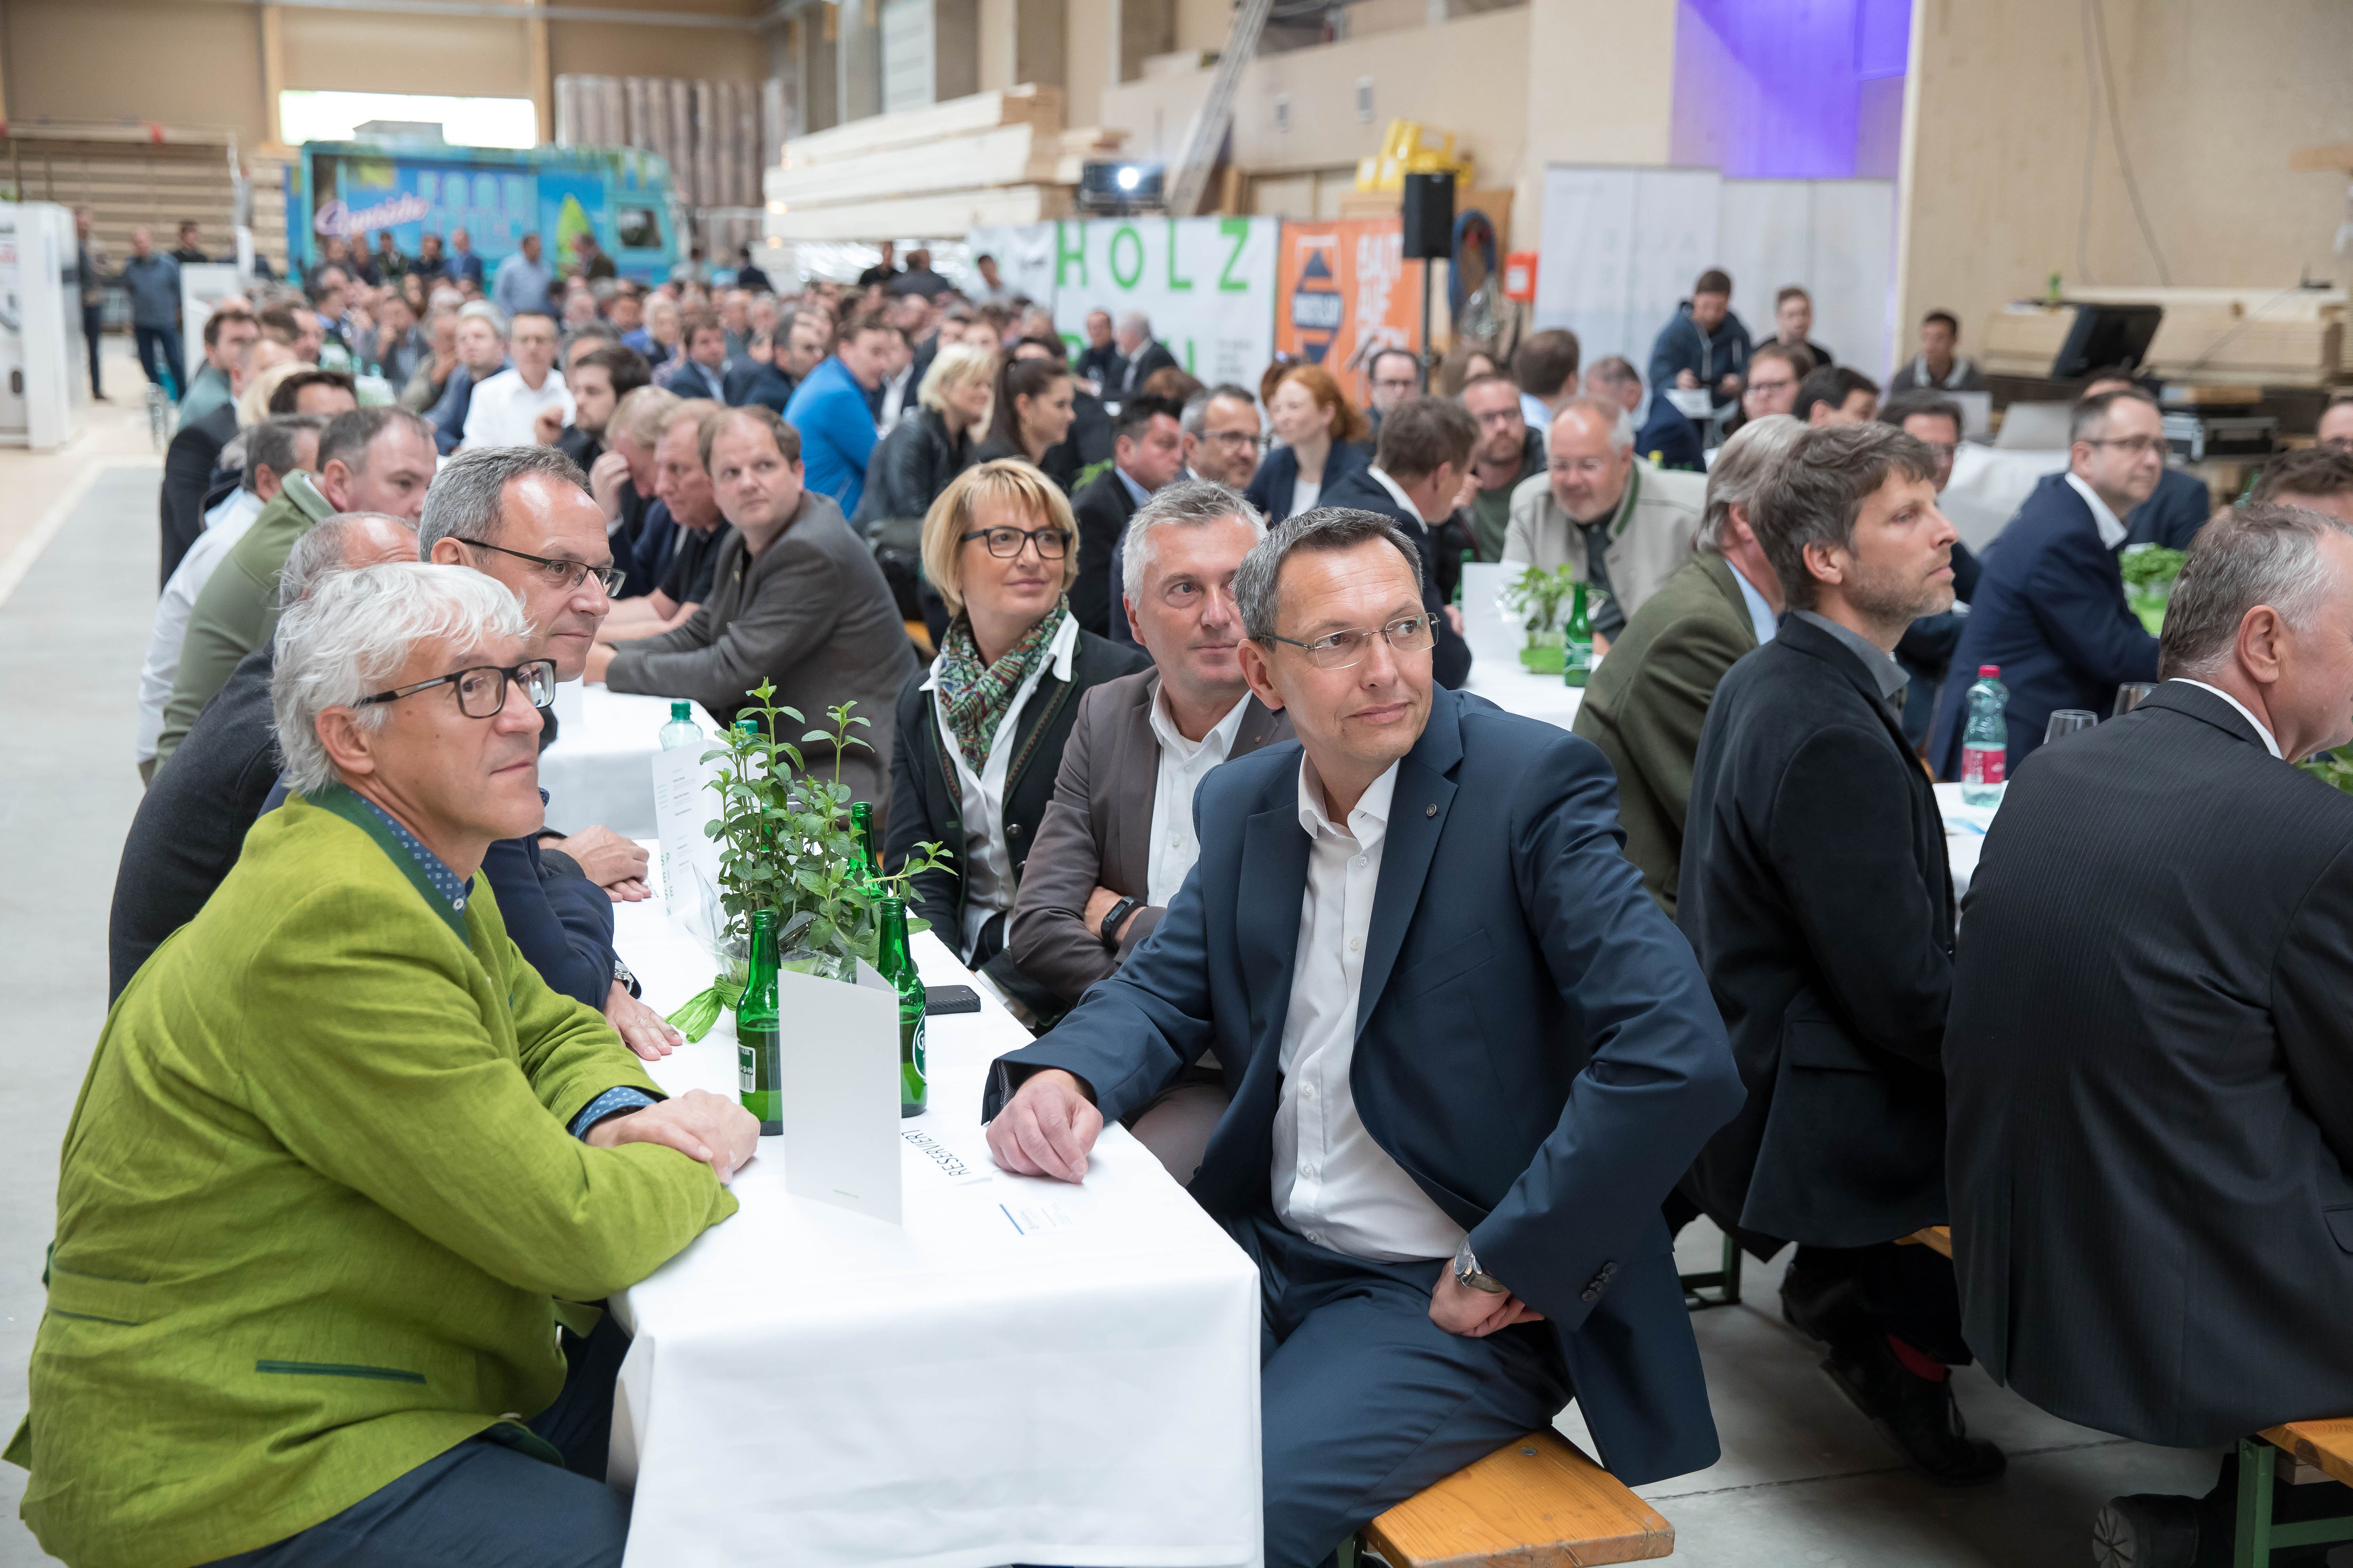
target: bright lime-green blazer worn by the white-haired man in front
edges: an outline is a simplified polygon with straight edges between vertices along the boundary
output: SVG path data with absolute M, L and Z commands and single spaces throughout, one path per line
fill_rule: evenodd
M 348 790 L 294 797 L 115 999 L 7 1448 L 54 1556 L 207 1563 L 501 1422 L 529 1450 L 555 1302 L 734 1213 L 685 1154 L 572 1138 L 602 1091 L 661 1091 L 482 877 L 464 903 Z

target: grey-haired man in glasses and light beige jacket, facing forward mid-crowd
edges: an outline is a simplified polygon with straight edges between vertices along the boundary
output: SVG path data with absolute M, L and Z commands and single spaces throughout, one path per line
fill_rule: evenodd
M 1504 564 L 1569 567 L 1600 590 L 1588 607 L 1600 654 L 1692 559 L 1708 480 L 1638 458 L 1624 407 L 1602 397 L 1572 397 L 1553 416 L 1546 463 L 1511 494 Z

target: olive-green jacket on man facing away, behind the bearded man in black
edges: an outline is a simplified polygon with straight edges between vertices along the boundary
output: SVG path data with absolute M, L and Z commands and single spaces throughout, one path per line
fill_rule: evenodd
M 1619 773 L 1626 858 L 1668 919 L 1675 919 L 1699 726 L 1708 722 L 1725 670 L 1755 646 L 1755 623 L 1732 564 L 1701 550 L 1633 611 L 1569 726 L 1609 755 Z

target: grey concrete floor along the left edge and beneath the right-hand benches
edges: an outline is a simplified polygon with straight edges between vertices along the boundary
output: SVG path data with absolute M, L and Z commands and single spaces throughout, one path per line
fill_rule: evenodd
M 134 388 L 115 362 L 108 386 Z M 68 454 L 0 454 L 0 994 L 16 1025 L 0 1037 L 0 1434 L 24 1413 L 24 1371 L 40 1321 L 42 1248 L 56 1147 L 106 1011 L 106 907 L 122 832 L 139 804 L 132 724 L 155 588 L 155 484 L 132 404 L 101 409 Z M 75 496 L 75 489 L 82 487 Z M 26 503 L 26 496 L 35 496 Z M 26 517 L 64 496 L 54 536 Z M 26 545 L 40 545 L 28 564 Z M 9 592 L 9 581 L 16 581 Z M 1685 1269 L 1715 1267 L 1715 1232 L 1685 1237 Z M 1725 1458 L 1642 1488 L 1675 1526 L 1692 1568 L 2075 1568 L 2089 1561 L 2101 1500 L 2134 1490 L 2205 1490 L 2217 1455 L 2146 1448 L 2052 1420 L 1981 1373 L 1960 1401 L 1974 1432 L 2009 1450 L 2009 1474 L 1948 1493 L 1894 1450 L 1781 1326 L 1781 1267 L 1748 1269 L 1746 1302 L 1694 1319 Z M 1574 1408 L 1562 1432 L 1586 1441 Z M 24 1472 L 0 1465 L 0 1512 L 16 1514 Z M 45 1563 L 33 1537 L 0 1523 L 0 1568 Z

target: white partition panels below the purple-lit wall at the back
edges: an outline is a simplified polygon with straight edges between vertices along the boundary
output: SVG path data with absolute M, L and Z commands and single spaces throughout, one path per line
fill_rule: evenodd
M 1722 179 L 1715 169 L 1553 165 L 1544 174 L 1537 327 L 1567 327 L 1591 364 L 1649 364 L 1652 339 L 1692 280 L 1720 266 L 1751 339 L 1772 336 L 1772 296 L 1814 296 L 1814 341 L 1873 378 L 1894 353 L 1894 183 Z

